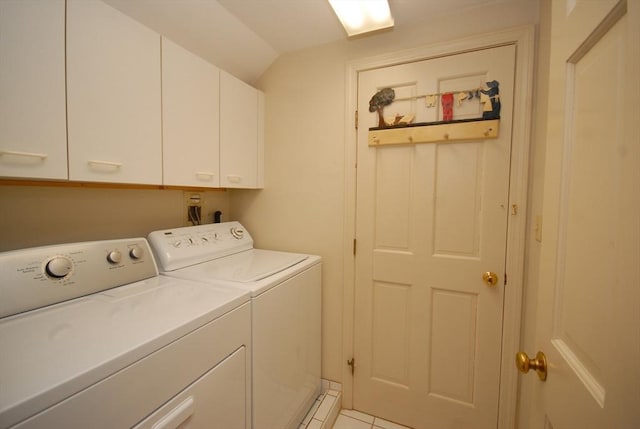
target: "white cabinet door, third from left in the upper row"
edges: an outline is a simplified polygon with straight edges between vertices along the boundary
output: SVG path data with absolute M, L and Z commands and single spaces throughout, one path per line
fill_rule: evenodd
M 220 71 L 162 39 L 165 185 L 220 186 Z

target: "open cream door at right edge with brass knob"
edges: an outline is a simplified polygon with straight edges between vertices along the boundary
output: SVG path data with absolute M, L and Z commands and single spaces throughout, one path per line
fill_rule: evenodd
M 640 2 L 551 13 L 535 427 L 638 428 Z

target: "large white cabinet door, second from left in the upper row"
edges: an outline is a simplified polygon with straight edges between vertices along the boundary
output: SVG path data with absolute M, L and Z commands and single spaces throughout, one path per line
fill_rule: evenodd
M 71 180 L 162 183 L 160 36 L 96 0 L 67 1 Z

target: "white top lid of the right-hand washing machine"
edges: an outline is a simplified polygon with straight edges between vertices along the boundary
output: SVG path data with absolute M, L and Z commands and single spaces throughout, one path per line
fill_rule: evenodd
M 308 259 L 308 255 L 251 249 L 206 263 L 206 274 L 217 280 L 257 282 Z

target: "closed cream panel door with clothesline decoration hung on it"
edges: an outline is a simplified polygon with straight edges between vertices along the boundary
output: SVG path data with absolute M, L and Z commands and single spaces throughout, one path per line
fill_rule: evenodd
M 495 428 L 509 205 L 514 45 L 358 77 L 355 409 L 418 429 Z M 387 117 L 482 117 L 499 83 L 497 139 L 369 147 L 369 100 Z M 444 97 L 445 101 L 446 98 Z M 483 273 L 498 277 L 494 286 Z

